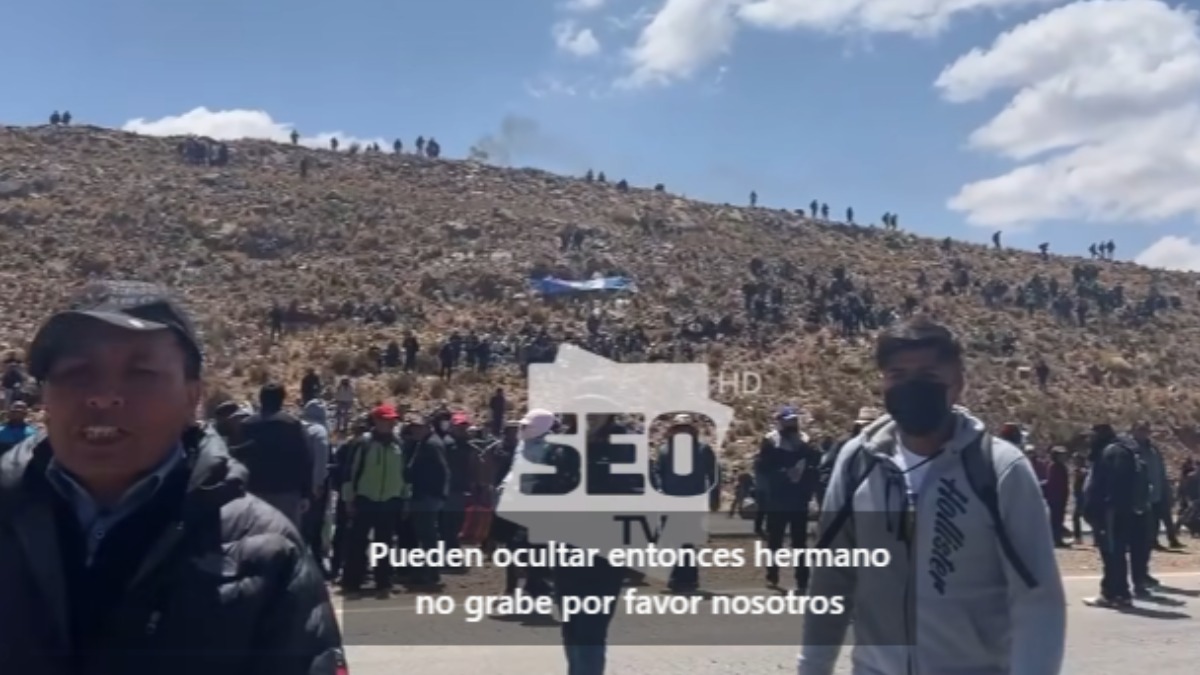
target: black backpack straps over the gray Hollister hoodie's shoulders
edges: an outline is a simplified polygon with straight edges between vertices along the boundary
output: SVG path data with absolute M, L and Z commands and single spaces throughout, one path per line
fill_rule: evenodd
M 853 455 L 846 460 L 846 467 L 842 470 L 842 479 L 847 482 L 846 500 L 842 502 L 841 508 L 838 509 L 833 521 L 829 522 L 829 526 L 817 538 L 816 548 L 818 549 L 829 548 L 834 537 L 846 525 L 846 520 L 854 515 L 854 492 L 866 482 L 880 461 L 874 454 L 865 452 L 862 444 L 851 452 L 853 452 Z M 980 434 L 970 446 L 962 448 L 961 458 L 962 470 L 967 476 L 971 491 L 983 502 L 984 508 L 988 509 L 988 514 L 991 516 L 992 528 L 996 531 L 996 540 L 1000 543 L 1001 551 L 1003 551 L 1004 557 L 1008 558 L 1008 563 L 1013 566 L 1018 577 L 1025 581 L 1025 585 L 1030 589 L 1037 589 L 1038 580 L 1030 572 L 1025 561 L 1021 560 L 1020 554 L 1016 552 L 1016 548 L 1013 546 L 1012 539 L 1008 538 L 1008 530 L 1004 527 L 1004 520 L 1000 514 L 1000 492 L 997 490 L 996 465 L 992 462 L 991 434 Z

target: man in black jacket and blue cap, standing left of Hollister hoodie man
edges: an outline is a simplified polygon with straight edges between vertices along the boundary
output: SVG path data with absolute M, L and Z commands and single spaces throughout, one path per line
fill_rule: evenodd
M 768 482 L 767 546 L 784 548 L 784 534 L 791 531 L 794 549 L 806 545 L 809 536 L 809 503 L 820 485 L 821 453 L 809 444 L 800 431 L 799 411 L 788 406 L 775 417 L 778 428 L 762 440 L 755 472 Z M 809 584 L 809 568 L 798 565 L 796 592 L 803 593 Z M 767 568 L 767 584 L 779 584 L 779 567 Z

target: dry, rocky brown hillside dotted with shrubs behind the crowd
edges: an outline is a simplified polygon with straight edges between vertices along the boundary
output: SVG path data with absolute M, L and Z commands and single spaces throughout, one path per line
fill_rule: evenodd
M 312 365 L 326 381 L 356 375 L 364 401 L 445 400 L 484 411 L 497 386 L 520 396 L 517 369 L 444 383 L 432 353 L 421 357 L 422 372 L 402 375 L 380 372 L 367 351 L 404 329 L 421 338 L 422 352 L 456 329 L 505 334 L 532 323 L 582 335 L 593 306 L 547 304 L 526 280 L 535 269 L 574 279 L 623 274 L 640 292 L 598 301 L 606 325 L 640 323 L 658 344 L 673 340 L 668 322 L 727 316 L 736 327 L 734 336 L 691 348 L 721 371 L 762 376 L 757 394 L 718 396 L 737 408 L 727 446 L 737 456 L 781 402 L 803 406 L 818 436 L 840 435 L 859 406 L 876 404 L 870 331 L 845 339 L 836 325 L 810 321 L 809 276 L 824 287 L 840 267 L 876 309 L 904 313 L 912 297 L 960 333 L 971 347 L 968 405 L 992 423 L 1021 420 L 1043 440 L 1063 440 L 1097 420 L 1147 416 L 1181 452 L 1200 422 L 1200 298 L 1189 275 L 958 241 L 947 249 L 902 231 L 620 191 L 612 184 L 619 177 L 600 184 L 251 141 L 229 144 L 228 166 L 193 166 L 180 157 L 180 142 L 95 127 L 0 127 L 0 274 L 8 286 L 0 342 L 23 347 L 89 275 L 142 277 L 172 285 L 197 312 L 218 395 L 248 398 L 270 377 L 295 388 Z M 577 250 L 559 245 L 568 226 L 587 232 Z M 742 286 L 752 261 L 781 289 L 778 322 L 748 319 Z M 1036 275 L 1074 293 L 1080 264 L 1096 264 L 1104 288 L 1121 286 L 1127 309 L 1093 311 L 1080 327 L 1013 304 L 1013 287 Z M 943 293 L 960 269 L 968 277 L 962 289 Z M 990 282 L 1009 285 L 992 303 L 984 297 Z M 1165 309 L 1132 312 L 1128 305 L 1152 287 Z M 268 335 L 272 301 L 299 306 L 301 325 L 278 344 Z M 372 304 L 395 307 L 396 323 L 356 318 Z M 997 347 L 1006 333 L 1015 338 L 1010 353 Z M 1039 357 L 1051 369 L 1046 390 L 1030 370 Z

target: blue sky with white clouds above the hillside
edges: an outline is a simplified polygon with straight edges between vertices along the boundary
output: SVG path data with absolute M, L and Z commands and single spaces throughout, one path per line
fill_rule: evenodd
M 1200 270 L 1200 14 L 1159 0 L 16 0 L 0 64 L 0 124 L 424 135 Z

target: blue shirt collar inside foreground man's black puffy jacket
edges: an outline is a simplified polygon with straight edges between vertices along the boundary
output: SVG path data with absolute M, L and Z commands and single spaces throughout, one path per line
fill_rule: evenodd
M 149 476 L 134 483 L 121 495 L 116 504 L 110 508 L 102 508 L 97 504 L 96 500 L 92 498 L 91 494 L 78 480 L 71 477 L 56 461 L 50 460 L 49 466 L 46 467 L 46 477 L 59 495 L 71 504 L 76 518 L 79 519 L 79 526 L 88 539 L 89 566 L 96 556 L 100 544 L 113 527 L 149 502 L 158 492 L 158 489 L 162 488 L 162 484 L 167 480 L 167 476 L 184 459 L 184 447 L 175 446 L 175 449 Z

